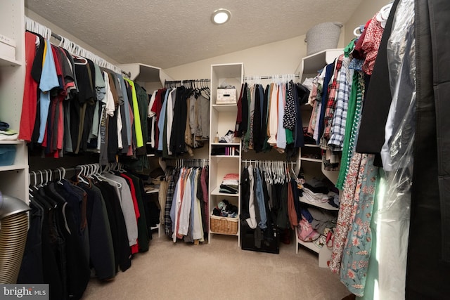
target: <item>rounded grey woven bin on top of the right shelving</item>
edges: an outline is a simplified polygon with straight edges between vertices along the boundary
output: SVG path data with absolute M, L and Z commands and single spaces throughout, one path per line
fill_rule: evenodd
M 336 48 L 339 43 L 341 27 L 342 24 L 336 22 L 323 22 L 311 27 L 304 40 L 307 42 L 307 56 L 326 49 Z

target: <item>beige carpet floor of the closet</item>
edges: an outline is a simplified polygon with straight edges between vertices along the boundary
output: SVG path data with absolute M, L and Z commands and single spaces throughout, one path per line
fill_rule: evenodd
M 91 279 L 84 300 L 96 299 L 342 299 L 338 275 L 319 268 L 307 249 L 281 244 L 280 254 L 241 250 L 237 237 L 210 244 L 172 242 L 153 234 L 150 250 L 111 282 Z

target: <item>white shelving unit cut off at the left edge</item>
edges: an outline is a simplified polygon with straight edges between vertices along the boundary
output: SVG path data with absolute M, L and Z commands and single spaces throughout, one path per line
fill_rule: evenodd
M 0 2 L 0 34 L 15 41 L 15 58 L 0 45 L 0 120 L 20 131 L 25 82 L 25 6 L 23 0 Z M 2 43 L 0 41 L 0 43 Z M 28 202 L 28 154 L 24 141 L 0 141 L 15 147 L 11 166 L 0 167 L 0 191 Z

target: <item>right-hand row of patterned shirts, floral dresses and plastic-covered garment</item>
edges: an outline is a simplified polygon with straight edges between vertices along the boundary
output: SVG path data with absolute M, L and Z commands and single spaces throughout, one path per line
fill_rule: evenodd
M 406 233 L 406 235 L 408 233 L 408 230 L 404 230 L 405 226 L 409 225 L 408 209 L 399 209 L 398 211 L 401 211 L 399 213 L 395 211 L 395 208 L 392 209 L 392 207 L 395 207 L 392 206 L 392 203 L 396 200 L 398 203 L 405 203 L 407 206 L 410 193 L 404 187 L 411 186 L 410 178 L 404 177 L 403 173 L 408 172 L 397 170 L 392 172 L 392 174 L 395 174 L 394 177 L 396 178 L 398 176 L 399 179 L 397 178 L 397 180 L 402 183 L 401 188 L 398 188 L 397 183 L 392 183 L 392 186 L 389 188 L 379 189 L 379 182 L 384 181 L 387 177 L 385 174 L 388 173 L 378 172 L 380 162 L 376 162 L 375 154 L 373 153 L 380 155 L 381 152 L 381 157 L 383 158 L 384 145 L 383 148 L 380 146 L 380 149 L 371 150 L 371 152 L 366 152 L 367 150 L 356 151 L 356 145 L 359 145 L 362 141 L 366 144 L 366 148 L 368 148 L 368 144 L 378 144 L 380 137 L 374 138 L 375 134 L 378 135 L 378 132 L 375 133 L 374 130 L 375 125 L 379 126 L 378 129 L 381 128 L 383 133 L 385 133 L 382 138 L 385 138 L 385 145 L 388 145 L 388 163 L 386 164 L 385 160 L 383 160 L 383 168 L 386 171 L 390 171 L 390 167 L 392 167 L 389 164 L 390 158 L 398 159 L 399 156 L 404 155 L 404 152 L 408 151 L 406 149 L 408 147 L 400 147 L 398 145 L 402 143 L 399 141 L 401 140 L 399 137 L 404 132 L 400 129 L 394 136 L 392 128 L 390 129 L 392 126 L 390 122 L 401 123 L 406 126 L 405 132 L 411 133 L 414 118 L 411 117 L 409 110 L 415 105 L 412 102 L 411 104 L 409 100 L 411 95 L 414 95 L 415 91 L 412 90 L 415 86 L 404 84 L 399 90 L 399 95 L 389 95 L 389 98 L 392 97 L 390 113 L 395 112 L 396 117 L 399 117 L 396 121 L 388 118 L 387 122 L 385 122 L 386 119 L 383 120 L 383 113 L 374 109 L 374 107 L 379 105 L 378 100 L 386 98 L 385 95 L 382 98 L 376 96 L 378 95 L 378 91 L 375 91 L 377 85 L 373 83 L 373 80 L 375 78 L 379 80 L 380 77 L 386 76 L 383 74 L 383 67 L 380 67 L 379 70 L 375 68 L 375 72 L 380 72 L 376 74 L 374 66 L 383 37 L 385 21 L 391 6 L 392 4 L 388 4 L 382 11 L 375 13 L 373 18 L 368 20 L 364 26 L 363 34 L 358 39 L 352 40 L 345 47 L 344 54 L 336 58 L 333 63 L 324 67 L 320 74 L 312 80 L 312 91 L 309 98 L 310 104 L 313 105 L 313 111 L 311 122 L 308 126 L 308 133 L 314 137 L 317 145 L 320 145 L 322 149 L 342 151 L 340 171 L 336 183 L 336 187 L 342 190 L 342 197 L 340 198 L 340 209 L 332 242 L 332 256 L 329 267 L 333 272 L 340 274 L 340 281 L 349 289 L 349 292 L 356 294 L 356 296 L 373 295 L 373 285 L 366 285 L 366 280 L 370 278 L 371 282 L 373 282 L 382 278 L 382 275 L 385 279 L 391 278 L 392 272 L 398 275 L 395 278 L 399 279 L 394 280 L 395 287 L 390 285 L 392 280 L 384 280 L 383 285 L 380 285 L 383 288 L 380 288 L 380 290 L 384 290 L 383 292 L 386 294 L 393 294 L 396 291 L 398 292 L 397 296 L 404 295 L 404 285 L 401 285 L 401 280 L 404 279 L 404 273 L 401 272 L 406 270 L 406 263 L 403 263 L 406 261 L 404 247 L 400 249 L 394 245 L 394 247 L 387 247 L 389 251 L 383 251 L 383 249 L 378 248 L 376 259 L 372 258 L 375 257 L 373 253 L 375 244 L 373 244 L 373 241 L 378 240 L 380 242 L 383 239 L 385 241 L 404 240 L 403 233 Z M 394 33 L 399 34 L 401 41 L 404 42 L 405 36 L 413 32 L 414 25 L 411 20 L 414 20 L 414 12 L 413 6 L 409 4 L 399 7 L 401 7 L 401 11 L 397 8 L 395 18 L 399 18 L 401 22 L 397 23 L 394 21 L 392 23 L 392 32 L 390 34 L 391 37 Z M 400 18 L 400 16 L 403 18 Z M 413 34 L 409 37 L 412 36 Z M 392 69 L 395 72 L 393 72 L 394 77 L 390 74 L 391 84 L 392 82 L 395 83 L 392 80 L 397 79 L 397 75 L 402 80 L 404 78 L 406 78 L 405 81 L 409 80 L 408 76 L 403 77 L 403 75 L 410 75 L 414 65 L 411 63 L 414 62 L 413 58 L 411 61 L 408 60 L 411 53 L 414 53 L 411 51 L 413 42 L 404 46 L 404 44 L 401 44 L 402 42 L 398 42 L 399 40 L 394 42 L 395 50 L 391 49 L 390 55 L 392 57 L 384 57 L 385 62 L 392 60 L 394 63 L 399 63 L 399 65 L 401 63 L 398 68 L 394 67 Z M 389 44 L 389 41 L 387 44 Z M 384 47 L 386 47 L 386 44 Z M 386 48 L 384 48 L 384 55 L 386 55 L 386 51 Z M 383 65 L 383 59 L 381 65 Z M 372 84 L 374 87 L 368 88 Z M 367 91 L 368 93 L 366 93 Z M 394 101 L 394 98 L 397 96 L 400 98 L 400 96 L 405 95 L 406 97 L 404 98 L 406 100 L 402 99 L 405 102 L 395 106 L 396 101 Z M 368 97 L 367 99 L 366 96 Z M 366 106 L 368 104 L 366 101 L 369 99 L 371 100 L 371 109 L 368 110 L 369 106 Z M 371 126 L 366 126 L 363 133 L 360 129 L 364 128 L 365 123 L 371 124 Z M 390 134 L 392 134 L 392 138 Z M 371 148 L 376 147 L 372 146 Z M 408 162 L 411 166 L 411 161 L 408 160 Z M 381 195 L 377 195 L 376 200 L 375 191 Z M 390 195 L 390 193 L 392 194 Z M 375 201 L 378 200 L 384 201 L 375 204 Z M 384 202 L 387 202 L 387 204 Z M 378 210 L 374 211 L 374 207 L 378 207 Z M 390 220 L 388 224 L 383 223 L 383 216 L 386 219 L 386 215 L 389 216 L 387 219 Z M 375 219 L 375 223 L 377 223 L 376 232 L 371 230 L 371 223 L 374 222 L 372 220 L 373 217 L 377 218 Z M 398 220 L 401 220 L 401 222 L 397 224 Z M 383 265 L 390 266 L 388 271 L 383 268 L 377 269 L 378 266 L 381 266 L 381 263 L 379 263 L 380 257 L 384 260 Z M 369 266 L 369 263 L 375 263 L 374 270 L 376 270 L 377 278 L 374 278 L 373 274 L 368 272 L 368 269 L 372 268 L 372 266 Z M 368 290 L 366 291 L 366 289 Z

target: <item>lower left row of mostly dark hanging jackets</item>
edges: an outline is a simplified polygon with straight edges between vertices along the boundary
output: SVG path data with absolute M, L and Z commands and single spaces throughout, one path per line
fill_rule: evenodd
M 111 280 L 131 266 L 131 254 L 148 251 L 142 181 L 122 170 L 80 168 L 70 181 L 63 175 L 30 187 L 18 282 L 50 284 L 51 299 L 80 299 L 91 273 Z

